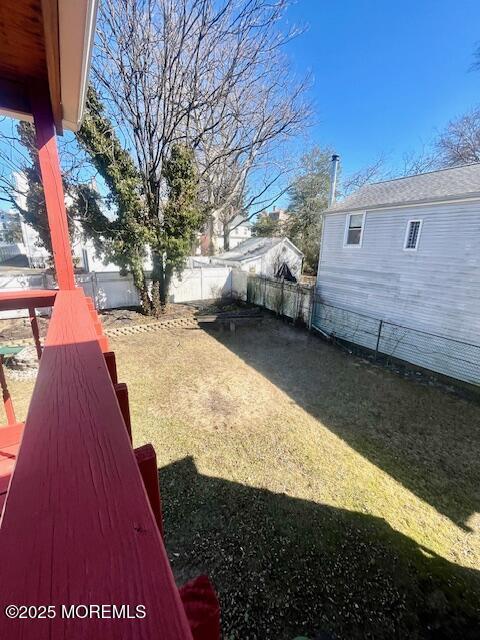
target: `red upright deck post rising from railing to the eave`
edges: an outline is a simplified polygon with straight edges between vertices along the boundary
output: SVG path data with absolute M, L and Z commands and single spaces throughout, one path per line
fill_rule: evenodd
M 30 103 L 35 123 L 38 160 L 45 192 L 57 282 L 60 289 L 75 289 L 65 196 L 48 87 L 33 86 L 30 92 Z

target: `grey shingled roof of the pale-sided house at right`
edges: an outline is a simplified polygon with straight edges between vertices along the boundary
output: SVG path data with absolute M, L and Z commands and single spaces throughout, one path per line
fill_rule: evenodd
M 376 182 L 335 202 L 327 213 L 480 198 L 480 163 Z

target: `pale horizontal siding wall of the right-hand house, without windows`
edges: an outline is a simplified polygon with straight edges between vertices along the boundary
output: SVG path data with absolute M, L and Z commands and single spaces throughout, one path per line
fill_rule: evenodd
M 418 220 L 418 250 L 406 251 L 407 225 Z M 479 344 L 480 202 L 368 211 L 366 221 L 362 250 L 346 251 L 346 215 L 324 216 L 317 276 L 321 300 Z

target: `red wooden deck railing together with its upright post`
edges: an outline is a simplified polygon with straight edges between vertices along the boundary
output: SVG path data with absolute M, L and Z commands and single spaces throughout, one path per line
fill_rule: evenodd
M 40 359 L 25 425 L 2 384 L 12 424 L 0 428 L 0 640 L 219 640 L 208 579 L 175 585 L 155 451 L 132 448 L 127 387 L 75 286 L 47 87 L 32 85 L 31 108 L 59 290 L 0 294 L 0 310 L 29 310 Z M 31 608 L 9 618 L 9 605 Z M 87 615 L 65 617 L 72 606 Z

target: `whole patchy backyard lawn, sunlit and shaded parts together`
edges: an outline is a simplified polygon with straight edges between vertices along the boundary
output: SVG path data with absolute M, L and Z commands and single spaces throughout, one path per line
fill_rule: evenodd
M 175 576 L 212 578 L 225 640 L 480 637 L 478 404 L 274 319 L 111 344 Z

